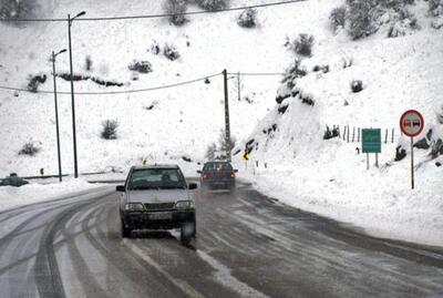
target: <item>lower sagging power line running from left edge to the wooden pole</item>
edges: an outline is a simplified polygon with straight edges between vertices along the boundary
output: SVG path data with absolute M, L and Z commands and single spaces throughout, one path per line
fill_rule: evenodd
M 215 78 L 218 75 L 222 75 L 222 73 L 216 73 L 216 74 L 206 75 L 206 76 L 198 78 L 198 79 L 190 80 L 190 81 L 179 82 L 179 83 L 175 83 L 175 84 L 161 85 L 161 86 L 154 86 L 154 88 L 122 90 L 122 91 L 103 91 L 103 92 L 75 92 L 75 94 L 79 94 L 79 95 L 110 95 L 110 94 L 127 94 L 127 93 L 148 92 L 148 91 L 156 91 L 156 90 L 162 90 L 162 89 L 169 89 L 169 88 L 192 84 L 192 83 L 205 81 L 207 79 Z M 38 90 L 37 92 L 32 92 L 32 91 L 29 91 L 28 89 L 11 88 L 11 86 L 3 86 L 3 85 L 0 85 L 0 89 L 11 90 L 11 91 L 23 91 L 23 92 L 29 92 L 29 93 L 42 93 L 42 94 L 53 94 L 54 93 L 53 91 L 48 91 L 48 90 Z M 71 92 L 58 91 L 56 94 L 71 94 Z

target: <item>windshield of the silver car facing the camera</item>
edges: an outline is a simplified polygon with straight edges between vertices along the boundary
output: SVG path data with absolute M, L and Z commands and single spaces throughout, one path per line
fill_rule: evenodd
M 185 178 L 178 168 L 140 168 L 132 172 L 128 189 L 186 188 Z

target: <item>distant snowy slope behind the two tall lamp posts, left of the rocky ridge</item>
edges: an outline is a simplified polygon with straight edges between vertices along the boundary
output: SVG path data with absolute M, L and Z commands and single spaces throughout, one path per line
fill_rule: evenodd
M 155 14 L 163 12 L 162 1 L 41 1 L 48 6 L 45 17 L 63 18 L 85 10 L 85 17 Z M 236 1 L 236 6 L 266 1 Z M 269 2 L 269 1 L 268 1 Z M 296 16 L 306 3 L 259 10 L 259 27 L 237 25 L 239 12 L 189 17 L 190 22 L 177 28 L 167 19 L 89 22 L 75 20 L 72 25 L 74 72 L 102 80 L 124 83 L 122 88 L 104 88 L 91 81 L 75 82 L 75 91 L 135 90 L 179 83 L 229 72 L 281 72 L 290 53 L 281 47 L 286 34 L 298 23 Z M 190 6 L 196 11 L 197 7 Z M 293 17 L 288 17 L 293 16 Z M 29 23 L 14 28 L 0 23 L 1 85 L 25 88 L 29 74 L 51 74 L 48 61 L 52 50 L 68 47 L 65 22 Z M 155 55 L 151 47 L 157 42 L 176 45 L 181 58 L 169 61 Z M 93 62 L 85 70 L 85 58 Z M 147 60 L 153 72 L 132 81 L 127 65 Z M 58 71 L 69 71 L 68 53 L 58 56 Z M 279 76 L 245 76 L 243 96 L 254 103 L 237 101 L 234 80 L 230 86 L 231 131 L 245 137 L 268 109 L 274 106 Z M 39 90 L 52 90 L 52 78 Z M 59 91 L 70 91 L 69 82 L 58 80 Z M 126 167 L 146 157 L 150 162 L 169 156 L 188 155 L 204 158 L 206 147 L 216 142 L 224 127 L 223 76 L 174 89 L 119 95 L 76 95 L 79 168 L 81 172 Z M 0 91 L 0 175 L 11 171 L 21 175 L 38 174 L 39 168 L 56 173 L 55 126 L 52 94 Z M 66 173 L 73 171 L 71 97 L 59 95 L 62 134 L 62 162 Z M 154 104 L 152 110 L 146 107 Z M 101 123 L 115 119 L 119 138 L 100 138 Z M 33 141 L 41 152 L 34 157 L 19 156 L 21 146 Z

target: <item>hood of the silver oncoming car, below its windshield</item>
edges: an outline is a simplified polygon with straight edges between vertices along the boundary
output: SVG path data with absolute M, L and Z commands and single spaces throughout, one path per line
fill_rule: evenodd
M 187 189 L 150 189 L 150 191 L 130 191 L 126 193 L 128 202 L 141 203 L 164 203 L 190 199 Z

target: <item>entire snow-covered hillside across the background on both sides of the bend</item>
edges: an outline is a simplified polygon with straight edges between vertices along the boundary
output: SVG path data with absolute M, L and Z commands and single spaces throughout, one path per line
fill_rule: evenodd
M 91 18 L 162 12 L 161 1 L 41 2 L 47 18 L 74 16 L 82 10 Z M 231 1 L 231 6 L 268 2 L 274 1 L 241 0 Z M 126 169 L 143 158 L 177 162 L 188 156 L 194 162 L 184 163 L 186 171 L 195 173 L 195 162 L 205 160 L 207 147 L 224 127 L 222 71 L 285 72 L 298 58 L 285 47 L 286 41 L 308 33 L 315 39 L 312 54 L 301 59 L 300 69 L 307 75 L 297 78 L 293 89 L 281 85 L 279 75 L 243 76 L 241 95 L 251 102 L 237 101 L 235 78 L 229 75 L 231 131 L 240 141 L 235 151 L 251 144 L 247 169 L 241 154 L 235 156 L 239 176 L 270 196 L 373 234 L 443 246 L 443 167 L 436 166 L 442 157 L 423 163 L 429 151 L 418 151 L 416 164 L 421 166 L 413 192 L 409 189 L 409 156 L 393 162 L 398 144 L 408 141 L 399 133 L 401 113 L 421 111 L 427 125 L 424 132 L 433 127 L 435 133 L 440 130 L 435 111 L 443 99 L 443 29 L 437 29 L 442 17 L 430 16 L 426 1 L 405 2 L 414 2 L 408 4 L 416 18 L 413 30 L 387 38 L 392 33 L 391 11 L 380 18 L 377 33 L 360 40 L 352 40 L 344 29 L 331 29 L 330 12 L 344 0 L 308 0 L 258 9 L 258 27 L 254 29 L 237 25 L 239 11 L 190 16 L 183 27 L 172 25 L 166 19 L 75 20 L 75 74 L 123 83 L 105 88 L 91 80 L 80 81 L 75 82 L 76 92 L 138 90 L 217 74 L 209 83 L 202 80 L 152 92 L 78 94 L 80 172 Z M 189 10 L 198 8 L 192 4 Z M 395 30 L 404 25 L 400 23 Z M 39 90 L 51 91 L 48 59 L 51 51 L 68 47 L 66 31 L 65 22 L 19 28 L 0 23 L 0 85 L 25 88 L 29 74 L 47 74 L 49 79 Z M 174 44 L 179 59 L 171 61 L 155 54 L 155 44 L 161 49 Z M 90 71 L 86 56 L 92 61 Z M 133 80 L 134 73 L 127 69 L 133 60 L 150 61 L 153 72 Z M 69 71 L 68 54 L 58 56 L 56 66 L 59 73 Z M 361 92 L 351 91 L 353 80 L 362 81 Z M 70 84 L 59 78 L 58 89 L 70 91 Z M 278 104 L 276 93 L 280 96 Z M 302 99 L 310 99 L 313 105 Z M 59 102 L 63 169 L 72 173 L 71 97 L 60 94 Z M 55 174 L 52 94 L 0 90 L 0 175 L 38 174 L 41 167 Z M 104 120 L 119 121 L 117 140 L 100 137 Z M 358 143 L 322 140 L 326 125 L 347 124 L 395 130 L 394 143 L 383 144 L 380 169 L 365 169 L 365 156 L 356 151 Z M 33 157 L 19 155 L 29 141 L 38 144 L 40 152 Z

